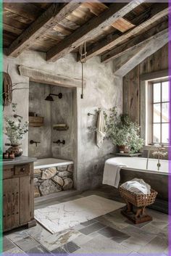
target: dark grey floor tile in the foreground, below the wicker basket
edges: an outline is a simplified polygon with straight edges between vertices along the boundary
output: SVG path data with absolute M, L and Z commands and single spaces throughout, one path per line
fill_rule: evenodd
M 112 240 L 117 241 L 117 243 L 121 243 L 123 240 L 128 239 L 130 236 L 128 234 L 125 234 L 121 231 L 118 231 L 114 228 L 103 228 L 100 231 L 98 231 L 99 234 L 102 236 L 106 236 L 108 238 L 112 238 Z

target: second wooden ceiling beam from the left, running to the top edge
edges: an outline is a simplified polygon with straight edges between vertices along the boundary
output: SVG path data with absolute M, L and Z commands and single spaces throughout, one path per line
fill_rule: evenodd
M 145 0 L 130 1 L 130 3 L 112 4 L 109 9 L 102 12 L 98 17 L 93 17 L 86 22 L 85 25 L 78 28 L 70 36 L 67 36 L 62 42 L 54 46 L 47 52 L 47 60 L 56 61 L 63 57 L 65 54 L 70 53 L 75 48 L 88 41 L 96 34 L 98 34 L 105 27 L 112 25 L 120 17 L 125 16 L 131 10 L 135 9 L 138 5 Z

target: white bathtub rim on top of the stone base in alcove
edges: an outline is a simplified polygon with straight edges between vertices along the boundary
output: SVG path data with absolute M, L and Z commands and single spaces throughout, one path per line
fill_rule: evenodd
M 50 168 L 59 165 L 72 165 L 73 162 L 70 160 L 62 160 L 57 158 L 43 158 L 38 159 L 34 162 L 34 169 Z

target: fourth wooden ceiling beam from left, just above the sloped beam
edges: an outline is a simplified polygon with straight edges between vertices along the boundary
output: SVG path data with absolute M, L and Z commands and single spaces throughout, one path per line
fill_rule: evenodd
M 162 36 L 162 34 L 167 33 L 167 30 L 168 30 L 168 21 L 159 23 L 154 28 L 146 30 L 145 32 L 141 33 L 135 38 L 130 39 L 125 44 L 117 46 L 111 51 L 108 51 L 106 54 L 102 55 L 101 62 L 109 62 L 109 60 L 111 59 L 116 59 L 117 57 L 120 57 L 122 54 L 125 54 L 128 51 L 132 51 L 133 49 L 140 46 L 141 44 L 146 44 L 152 39 Z

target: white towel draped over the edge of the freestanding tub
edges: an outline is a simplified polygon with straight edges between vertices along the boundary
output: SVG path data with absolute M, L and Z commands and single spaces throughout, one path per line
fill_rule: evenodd
M 104 165 L 103 184 L 118 188 L 120 183 L 120 169 L 125 166 L 122 163 L 114 162 L 113 158 L 108 159 Z

